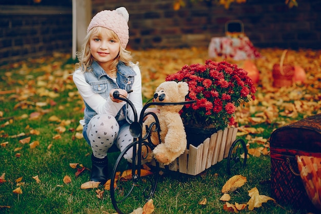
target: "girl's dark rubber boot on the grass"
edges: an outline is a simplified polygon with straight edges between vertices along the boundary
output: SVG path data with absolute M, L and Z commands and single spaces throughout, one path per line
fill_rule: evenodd
M 96 158 L 91 155 L 91 174 L 90 181 L 99 181 L 102 185 L 108 180 L 108 159 L 107 156 L 103 159 Z

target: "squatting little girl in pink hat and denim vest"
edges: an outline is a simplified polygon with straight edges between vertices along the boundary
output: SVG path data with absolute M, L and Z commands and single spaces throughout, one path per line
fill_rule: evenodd
M 83 48 L 77 53 L 79 63 L 73 74 L 85 103 L 84 119 L 80 123 L 92 148 L 90 180 L 101 184 L 108 179 L 109 148 L 116 146 L 122 151 L 133 141 L 129 132 L 133 110 L 126 102 L 114 99 L 113 92 L 117 90 L 126 96 L 138 115 L 143 108 L 141 71 L 125 50 L 129 39 L 128 19 L 124 7 L 97 13 L 87 28 Z M 131 155 L 125 158 L 131 162 Z

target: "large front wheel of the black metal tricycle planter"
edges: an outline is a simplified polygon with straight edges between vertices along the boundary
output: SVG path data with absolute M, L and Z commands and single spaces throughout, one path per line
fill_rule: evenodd
M 113 168 L 110 182 L 110 197 L 114 209 L 119 213 L 130 213 L 133 209 L 143 207 L 144 204 L 153 197 L 158 183 L 159 165 L 152 170 L 142 168 L 137 165 L 138 158 L 138 141 L 128 145 L 119 154 Z M 153 149 L 153 145 L 143 142 L 142 147 L 147 146 Z M 133 163 L 129 164 L 124 158 L 127 152 L 133 152 Z M 135 164 L 136 163 L 136 164 Z

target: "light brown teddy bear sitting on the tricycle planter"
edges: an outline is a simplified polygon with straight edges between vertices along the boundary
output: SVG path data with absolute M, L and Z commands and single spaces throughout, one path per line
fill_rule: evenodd
M 186 82 L 168 81 L 161 83 L 154 94 L 154 102 L 183 102 L 188 94 L 189 88 Z M 142 147 L 142 151 L 147 152 L 146 161 L 151 161 L 154 157 L 159 163 L 168 165 L 180 154 L 183 154 L 186 146 L 186 132 L 179 111 L 184 105 L 155 105 L 159 112 L 156 113 L 160 127 L 160 142 L 157 132 L 151 132 L 151 142 L 156 146 L 153 151 L 147 151 L 147 147 Z M 148 116 L 143 123 L 143 136 L 146 134 L 146 126 L 155 122 L 153 116 Z M 144 151 L 145 150 L 145 151 Z M 150 149 L 149 149 L 150 150 Z M 146 154 L 146 153 L 145 153 Z

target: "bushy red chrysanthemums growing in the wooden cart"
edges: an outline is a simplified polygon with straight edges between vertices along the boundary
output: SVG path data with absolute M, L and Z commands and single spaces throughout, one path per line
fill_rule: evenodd
M 166 81 L 187 82 L 186 100 L 196 100 L 180 111 L 186 128 L 224 129 L 235 124 L 234 115 L 240 104 L 255 99 L 256 88 L 247 71 L 225 61 L 185 65 L 167 76 Z

